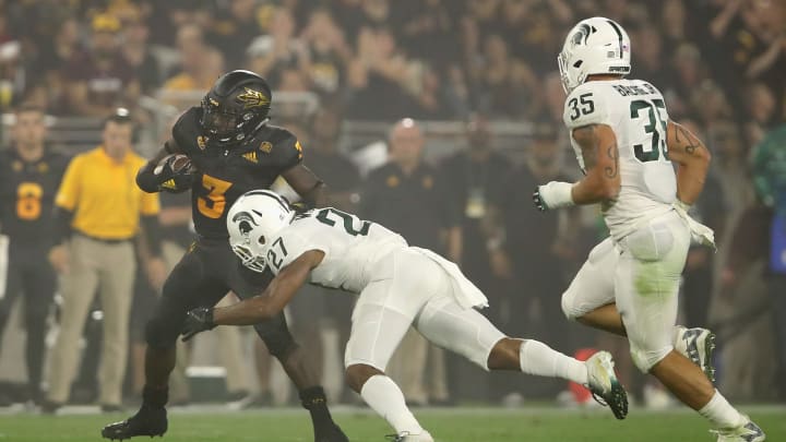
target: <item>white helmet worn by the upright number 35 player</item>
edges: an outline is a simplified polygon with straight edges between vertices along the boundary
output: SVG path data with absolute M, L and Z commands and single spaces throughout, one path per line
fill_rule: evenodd
M 617 22 L 595 16 L 573 26 L 557 63 L 568 94 L 588 75 L 630 73 L 630 37 Z

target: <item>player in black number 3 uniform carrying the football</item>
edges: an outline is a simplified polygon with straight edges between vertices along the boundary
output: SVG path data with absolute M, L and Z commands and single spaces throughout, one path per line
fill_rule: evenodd
M 191 189 L 199 239 L 175 266 L 146 326 L 145 386 L 142 407 L 128 420 L 108 425 L 108 439 L 157 435 L 167 430 L 169 373 L 175 367 L 175 342 L 186 313 L 212 307 L 227 291 L 241 298 L 259 295 L 272 274 L 247 271 L 229 248 L 226 214 L 245 192 L 269 188 L 282 176 L 303 200 L 324 202 L 324 184 L 302 165 L 302 148 L 289 131 L 267 124 L 272 94 L 250 71 L 222 75 L 200 107 L 187 110 L 172 128 L 172 138 L 136 176 L 146 192 Z M 187 155 L 191 164 L 183 166 Z M 297 386 L 311 414 L 317 442 L 347 441 L 333 422 L 318 377 L 303 363 L 284 315 L 255 326 L 267 349 Z

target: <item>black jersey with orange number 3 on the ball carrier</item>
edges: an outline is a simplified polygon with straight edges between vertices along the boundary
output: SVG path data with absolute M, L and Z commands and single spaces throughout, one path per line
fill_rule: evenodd
M 229 236 L 226 214 L 243 193 L 267 189 L 302 160 L 302 147 L 284 128 L 265 124 L 248 141 L 225 150 L 213 145 L 199 124 L 202 109 L 187 110 L 172 128 L 172 138 L 199 172 L 191 188 L 194 229 L 202 238 Z

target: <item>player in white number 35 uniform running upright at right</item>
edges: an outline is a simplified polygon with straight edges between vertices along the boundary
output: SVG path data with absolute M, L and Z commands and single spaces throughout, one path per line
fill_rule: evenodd
M 704 186 L 710 153 L 669 120 L 652 84 L 623 79 L 630 50 L 619 24 L 593 17 L 570 31 L 558 58 L 569 94 L 563 119 L 585 176 L 538 187 L 535 204 L 543 211 L 600 203 L 611 234 L 562 295 L 562 309 L 570 319 L 627 335 L 636 367 L 708 419 L 718 441 L 763 441 L 761 429 L 713 386 L 712 334 L 675 327 L 690 242 L 713 244 L 712 230 L 687 215 Z

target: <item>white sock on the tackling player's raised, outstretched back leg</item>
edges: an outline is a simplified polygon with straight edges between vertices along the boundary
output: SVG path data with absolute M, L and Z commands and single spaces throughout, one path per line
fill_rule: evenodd
M 565 356 L 538 341 L 522 341 L 519 358 L 522 371 L 527 374 L 562 378 L 582 385 L 588 381 L 584 362 Z

